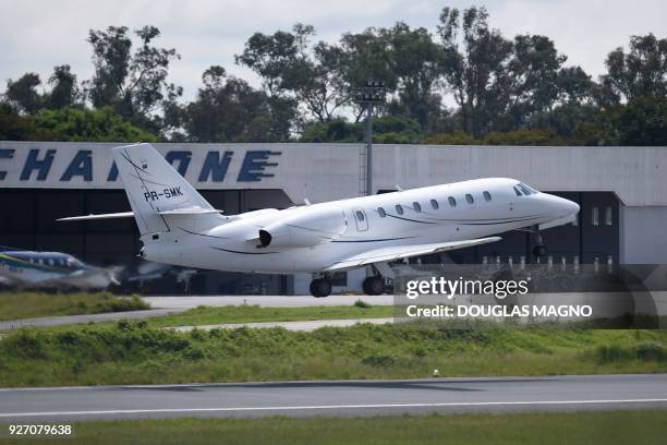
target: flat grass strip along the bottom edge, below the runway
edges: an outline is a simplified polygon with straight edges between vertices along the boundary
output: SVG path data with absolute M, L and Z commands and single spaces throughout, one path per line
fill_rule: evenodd
M 82 422 L 68 444 L 660 444 L 667 411 Z M 22 440 L 21 443 L 31 443 Z M 57 442 L 57 441 L 56 441 Z

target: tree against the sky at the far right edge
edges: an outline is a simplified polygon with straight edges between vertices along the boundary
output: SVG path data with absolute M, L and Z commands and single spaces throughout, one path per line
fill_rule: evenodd
M 630 51 L 616 48 L 605 61 L 607 73 L 599 79 L 598 101 L 617 105 L 640 96 L 667 94 L 667 38 L 653 34 L 630 37 Z

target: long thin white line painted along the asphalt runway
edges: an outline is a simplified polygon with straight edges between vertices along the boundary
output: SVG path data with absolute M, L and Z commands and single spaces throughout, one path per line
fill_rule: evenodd
M 377 405 L 314 405 L 287 407 L 220 407 L 220 408 L 158 408 L 158 409 L 114 409 L 99 411 L 49 411 L 49 412 L 5 412 L 0 418 L 48 417 L 48 416 L 104 416 L 104 414 L 141 414 L 169 412 L 229 412 L 229 411 L 284 411 L 284 410 L 327 410 L 327 409 L 364 409 L 364 408 L 440 408 L 440 407 L 478 407 L 478 406 L 533 406 L 533 405 L 602 405 L 602 404 L 641 404 L 667 401 L 667 398 L 651 399 L 610 399 L 610 400 L 537 400 L 537 401 L 462 401 L 441 404 L 377 404 Z

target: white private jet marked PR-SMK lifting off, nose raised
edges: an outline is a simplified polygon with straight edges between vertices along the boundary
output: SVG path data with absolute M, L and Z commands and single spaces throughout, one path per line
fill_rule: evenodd
M 368 294 L 383 292 L 389 262 L 499 241 L 493 234 L 572 221 L 579 205 L 507 178 L 475 179 L 286 209 L 226 216 L 150 145 L 112 148 L 133 212 L 62 220 L 134 217 L 141 256 L 185 267 L 313 273 L 314 297 L 336 270 L 373 265 Z M 544 246 L 538 246 L 539 251 Z M 381 275 L 380 275 L 381 274 Z

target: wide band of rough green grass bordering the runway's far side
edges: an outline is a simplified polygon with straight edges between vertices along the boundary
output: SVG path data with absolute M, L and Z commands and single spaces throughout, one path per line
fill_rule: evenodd
M 665 330 L 411 325 L 156 329 L 146 322 L 24 328 L 0 340 L 1 386 L 667 371 Z

